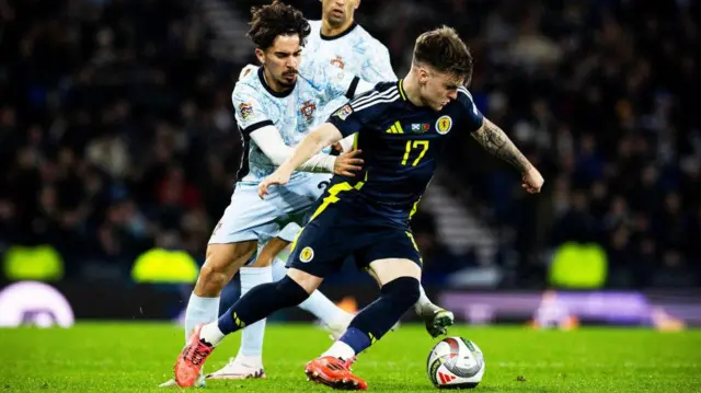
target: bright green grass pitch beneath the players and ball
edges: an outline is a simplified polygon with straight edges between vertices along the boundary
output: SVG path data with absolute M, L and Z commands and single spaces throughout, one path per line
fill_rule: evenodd
M 158 323 L 0 330 L 0 392 L 163 392 L 157 385 L 172 375 L 182 334 Z M 474 340 L 484 351 L 486 372 L 475 393 L 701 392 L 701 331 L 458 326 L 450 334 Z M 239 340 L 239 334 L 228 337 L 206 370 L 234 355 Z M 437 392 L 425 371 L 434 343 L 422 326 L 403 325 L 361 355 L 354 371 L 370 391 Z M 271 325 L 264 349 L 268 379 L 208 381 L 205 391 L 330 391 L 307 382 L 302 372 L 304 362 L 330 344 L 312 325 Z

